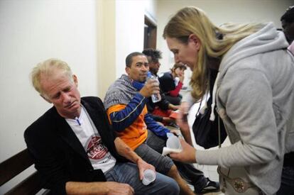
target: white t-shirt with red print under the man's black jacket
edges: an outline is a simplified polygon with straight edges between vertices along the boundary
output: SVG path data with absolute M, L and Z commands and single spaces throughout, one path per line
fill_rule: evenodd
M 102 169 L 102 172 L 107 172 L 114 167 L 116 159 L 103 145 L 98 130 L 94 126 L 92 119 L 89 118 L 85 108 L 82 107 L 79 118 L 65 118 L 65 120 L 85 148 L 94 169 Z

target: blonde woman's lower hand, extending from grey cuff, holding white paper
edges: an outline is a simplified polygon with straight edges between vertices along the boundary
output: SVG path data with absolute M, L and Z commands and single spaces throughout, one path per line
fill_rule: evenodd
M 180 153 L 170 153 L 170 157 L 173 160 L 180 162 L 196 162 L 196 149 L 185 142 L 185 140 L 180 139 L 180 144 L 182 145 L 183 151 Z

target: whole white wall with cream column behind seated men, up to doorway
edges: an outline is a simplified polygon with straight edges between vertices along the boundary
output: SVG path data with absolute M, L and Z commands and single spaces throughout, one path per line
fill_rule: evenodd
M 65 60 L 82 96 L 103 99 L 125 72 L 126 55 L 143 50 L 144 14 L 156 20 L 155 6 L 155 0 L 0 0 L 0 162 L 26 147 L 23 131 L 51 107 L 31 87 L 31 69 L 50 57 Z

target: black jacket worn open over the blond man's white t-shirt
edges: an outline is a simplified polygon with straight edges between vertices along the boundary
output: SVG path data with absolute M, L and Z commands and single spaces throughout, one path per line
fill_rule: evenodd
M 102 101 L 84 97 L 81 104 L 92 118 L 102 143 L 117 162 L 126 161 L 116 152 L 114 130 L 111 129 Z M 101 169 L 94 170 L 84 147 L 70 126 L 53 106 L 29 126 L 24 137 L 35 167 L 45 179 L 45 188 L 52 194 L 66 194 L 66 182 L 106 181 Z

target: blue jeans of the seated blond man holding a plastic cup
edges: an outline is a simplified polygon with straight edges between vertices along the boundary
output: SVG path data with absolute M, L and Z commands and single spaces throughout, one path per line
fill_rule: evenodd
M 117 163 L 105 173 L 107 182 L 119 182 L 129 184 L 135 190 L 135 194 L 160 194 L 178 195 L 180 188 L 170 177 L 156 172 L 156 180 L 148 186 L 144 186 L 139 179 L 138 167 L 131 163 Z

